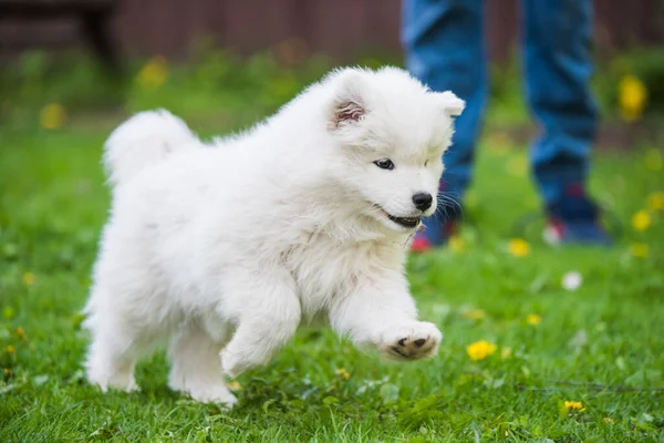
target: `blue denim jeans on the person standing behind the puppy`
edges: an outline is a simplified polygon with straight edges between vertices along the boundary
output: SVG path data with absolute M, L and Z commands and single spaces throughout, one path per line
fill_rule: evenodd
M 544 204 L 584 185 L 598 113 L 590 91 L 592 0 L 521 0 L 526 96 L 541 134 L 530 162 Z M 406 64 L 432 90 L 466 100 L 445 154 L 445 189 L 460 198 L 487 100 L 483 0 L 404 0 Z

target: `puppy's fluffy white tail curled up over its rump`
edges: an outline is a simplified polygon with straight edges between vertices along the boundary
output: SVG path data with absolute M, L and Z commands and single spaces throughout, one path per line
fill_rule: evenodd
M 126 183 L 164 158 L 199 145 L 185 122 L 167 111 L 138 113 L 121 124 L 104 146 L 104 165 L 112 186 Z

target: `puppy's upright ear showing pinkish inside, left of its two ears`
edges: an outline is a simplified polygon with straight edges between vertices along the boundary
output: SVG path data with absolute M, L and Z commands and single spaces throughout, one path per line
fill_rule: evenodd
M 346 70 L 340 74 L 336 92 L 332 103 L 330 128 L 360 122 L 366 115 L 366 103 L 363 97 L 365 81 L 361 72 Z

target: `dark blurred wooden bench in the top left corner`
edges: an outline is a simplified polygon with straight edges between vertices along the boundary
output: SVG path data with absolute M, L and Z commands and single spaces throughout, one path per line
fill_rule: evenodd
M 120 56 L 110 30 L 116 0 L 0 0 L 0 20 L 74 17 L 106 70 L 120 76 Z

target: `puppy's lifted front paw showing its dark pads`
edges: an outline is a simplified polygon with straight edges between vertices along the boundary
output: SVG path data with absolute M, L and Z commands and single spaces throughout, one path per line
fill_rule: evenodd
M 443 334 L 435 324 L 417 321 L 383 332 L 380 349 L 394 360 L 421 360 L 434 357 L 440 340 Z

